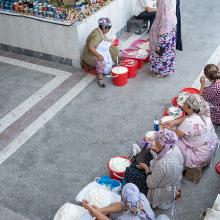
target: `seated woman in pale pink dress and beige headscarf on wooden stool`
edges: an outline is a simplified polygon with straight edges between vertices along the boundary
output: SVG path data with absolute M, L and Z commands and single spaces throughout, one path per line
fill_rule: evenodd
M 192 169 L 200 178 L 202 167 L 212 159 L 218 138 L 211 122 L 208 103 L 200 95 L 189 95 L 183 110 L 187 113 L 186 117 L 169 121 L 164 126 L 176 132 L 185 167 Z

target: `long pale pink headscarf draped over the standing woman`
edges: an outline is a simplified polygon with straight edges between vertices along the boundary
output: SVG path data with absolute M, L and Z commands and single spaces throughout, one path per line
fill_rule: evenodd
M 176 28 L 176 0 L 157 0 L 157 14 L 150 29 L 150 48 L 157 49 L 158 36 Z

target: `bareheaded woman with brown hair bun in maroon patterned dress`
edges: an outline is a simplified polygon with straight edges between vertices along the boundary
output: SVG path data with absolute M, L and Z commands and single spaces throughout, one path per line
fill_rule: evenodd
M 204 68 L 204 75 L 211 82 L 211 85 L 205 87 L 205 77 L 200 79 L 200 94 L 209 102 L 212 123 L 220 125 L 220 71 L 215 64 L 208 64 Z

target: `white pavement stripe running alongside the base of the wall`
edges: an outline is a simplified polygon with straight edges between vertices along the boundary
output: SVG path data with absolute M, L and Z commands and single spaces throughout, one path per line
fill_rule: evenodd
M 43 73 L 47 73 L 53 76 L 58 76 L 60 74 L 70 74 L 69 72 L 63 71 L 63 70 L 59 70 L 59 69 L 54 69 L 51 67 L 46 67 L 46 66 L 41 66 L 41 65 L 37 65 L 37 64 L 33 64 L 33 63 L 28 63 L 22 60 L 18 60 L 18 59 L 12 59 L 9 57 L 3 57 L 0 56 L 0 62 L 2 63 L 7 63 L 7 64 L 11 64 L 14 66 L 19 66 L 22 68 L 27 68 L 27 69 L 31 69 L 31 70 L 36 70 L 39 72 L 43 72 Z

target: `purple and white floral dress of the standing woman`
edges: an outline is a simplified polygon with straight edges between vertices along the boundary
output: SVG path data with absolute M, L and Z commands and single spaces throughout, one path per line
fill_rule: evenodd
M 158 47 L 165 48 L 162 56 L 158 56 L 155 51 L 151 51 L 150 64 L 151 71 L 164 76 L 174 73 L 176 58 L 176 32 L 172 31 L 160 35 L 157 41 Z

